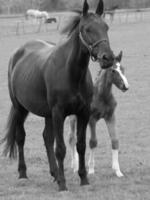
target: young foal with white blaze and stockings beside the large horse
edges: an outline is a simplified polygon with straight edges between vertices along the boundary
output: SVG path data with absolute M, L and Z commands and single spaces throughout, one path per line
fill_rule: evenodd
M 115 85 L 118 89 L 125 92 L 129 89 L 127 78 L 124 75 L 124 68 L 121 65 L 122 52 L 115 58 L 112 68 L 101 70 L 94 84 L 94 94 L 91 103 L 91 115 L 89 119 L 90 127 L 90 157 L 88 161 L 89 174 L 94 174 L 94 148 L 97 146 L 96 123 L 100 119 L 104 119 L 112 145 L 112 169 L 117 177 L 122 177 L 123 173 L 120 170 L 118 151 L 119 140 L 116 133 L 115 109 L 117 101 L 112 93 L 112 86 Z M 71 167 L 74 172 L 78 169 L 78 155 L 76 153 L 76 117 L 70 116 L 70 133 L 69 144 L 71 147 L 72 162 Z

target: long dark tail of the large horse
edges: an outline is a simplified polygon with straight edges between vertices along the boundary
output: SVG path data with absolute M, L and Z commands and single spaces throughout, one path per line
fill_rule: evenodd
M 11 106 L 11 110 L 9 113 L 7 126 L 6 126 L 6 135 L 0 141 L 0 144 L 5 143 L 3 154 L 7 156 L 9 154 L 10 158 L 17 157 L 17 146 L 16 146 L 16 125 L 18 121 L 18 112 Z

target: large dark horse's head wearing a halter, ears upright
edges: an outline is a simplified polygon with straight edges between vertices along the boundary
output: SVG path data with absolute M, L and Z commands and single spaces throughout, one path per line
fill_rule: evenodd
M 111 67 L 114 54 L 110 48 L 108 25 L 103 20 L 103 1 L 99 0 L 95 13 L 88 12 L 89 5 L 84 1 L 79 24 L 79 36 L 83 46 L 89 51 L 93 61 L 98 61 L 101 68 Z

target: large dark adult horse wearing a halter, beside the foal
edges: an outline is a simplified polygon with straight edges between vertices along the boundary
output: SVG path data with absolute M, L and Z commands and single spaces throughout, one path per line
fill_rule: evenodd
M 75 114 L 78 174 L 81 185 L 89 184 L 85 167 L 86 127 L 93 95 L 89 60 L 92 58 L 103 69 L 111 67 L 114 62 L 108 25 L 101 17 L 103 7 L 103 1 L 99 0 L 95 13 L 89 12 L 88 2 L 84 0 L 82 11 L 62 30 L 68 36 L 61 43 L 52 47 L 45 41 L 28 41 L 10 57 L 8 86 L 12 105 L 1 143 L 5 142 L 4 154 L 10 158 L 15 158 L 18 152 L 19 178 L 27 178 L 24 123 L 31 112 L 45 119 L 43 139 L 50 174 L 59 191 L 67 190 L 63 126 L 65 118 Z

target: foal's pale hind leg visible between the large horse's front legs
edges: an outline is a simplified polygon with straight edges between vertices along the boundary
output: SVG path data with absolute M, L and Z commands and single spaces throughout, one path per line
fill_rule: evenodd
M 69 117 L 70 120 L 70 133 L 69 133 L 69 144 L 71 147 L 71 168 L 73 168 L 73 171 L 76 172 L 78 171 L 79 168 L 79 158 L 77 154 L 77 149 L 76 149 L 76 116 L 72 115 Z

